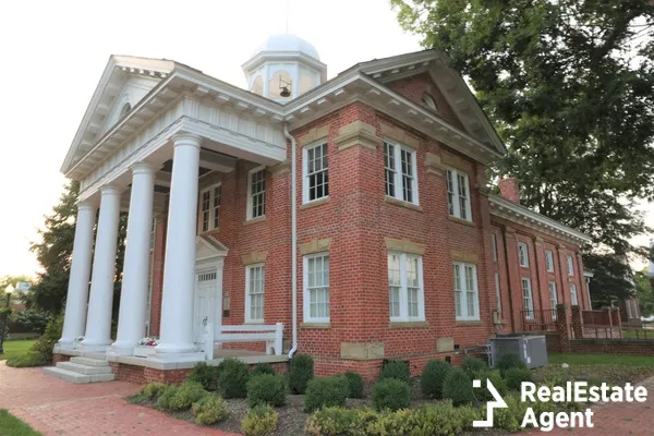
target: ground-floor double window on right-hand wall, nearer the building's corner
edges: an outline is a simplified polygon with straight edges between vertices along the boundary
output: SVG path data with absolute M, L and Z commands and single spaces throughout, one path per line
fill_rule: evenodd
M 390 320 L 424 320 L 422 257 L 388 254 L 388 307 Z

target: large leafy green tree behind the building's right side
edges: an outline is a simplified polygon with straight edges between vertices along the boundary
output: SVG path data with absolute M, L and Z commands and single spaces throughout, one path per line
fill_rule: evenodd
M 633 292 L 625 258 L 654 198 L 654 5 L 644 0 L 391 0 L 446 52 L 508 146 L 493 174 L 521 202 L 588 233 L 593 301 Z

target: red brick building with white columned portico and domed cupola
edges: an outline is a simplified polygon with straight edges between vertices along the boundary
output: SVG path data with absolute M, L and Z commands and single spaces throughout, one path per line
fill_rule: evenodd
M 62 167 L 81 194 L 58 359 L 100 353 L 148 378 L 239 351 L 302 352 L 318 374 L 372 378 L 384 359 L 416 373 L 495 334 L 546 329 L 557 303 L 589 308 L 589 238 L 520 206 L 512 178 L 487 191 L 506 149 L 441 53 L 327 81 L 315 48 L 281 35 L 243 70 L 247 90 L 110 58 Z M 134 358 L 146 334 L 158 346 Z

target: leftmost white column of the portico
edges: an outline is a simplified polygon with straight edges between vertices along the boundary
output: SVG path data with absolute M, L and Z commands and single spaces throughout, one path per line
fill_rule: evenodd
M 65 299 L 63 331 L 61 339 L 59 339 L 59 343 L 64 348 L 72 347 L 75 338 L 84 335 L 95 216 L 96 208 L 94 205 L 88 203 L 77 204 L 77 221 L 75 223 L 69 290 Z

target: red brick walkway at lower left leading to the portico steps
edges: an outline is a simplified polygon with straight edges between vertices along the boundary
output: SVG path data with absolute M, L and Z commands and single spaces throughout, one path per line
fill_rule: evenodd
M 45 436 L 229 435 L 122 398 L 140 388 L 124 382 L 73 385 L 40 368 L 11 368 L 0 362 L 0 409 L 9 409 Z

